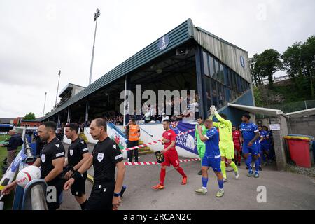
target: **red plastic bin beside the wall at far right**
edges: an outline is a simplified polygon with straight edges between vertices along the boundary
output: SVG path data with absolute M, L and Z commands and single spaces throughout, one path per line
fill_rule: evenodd
M 309 137 L 286 136 L 291 160 L 299 167 L 311 168 Z

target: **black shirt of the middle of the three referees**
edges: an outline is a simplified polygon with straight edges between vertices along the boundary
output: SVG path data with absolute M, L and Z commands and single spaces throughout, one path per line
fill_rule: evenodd
M 68 165 L 69 167 L 74 167 L 83 159 L 83 154 L 88 153 L 89 149 L 85 141 L 78 138 L 71 142 L 68 149 Z

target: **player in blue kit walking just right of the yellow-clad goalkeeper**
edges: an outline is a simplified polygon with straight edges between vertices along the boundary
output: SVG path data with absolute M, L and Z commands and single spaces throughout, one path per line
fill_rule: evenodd
M 254 123 L 249 122 L 251 116 L 249 114 L 244 114 L 241 117 L 241 136 L 244 139 L 243 143 L 243 157 L 248 167 L 247 176 L 253 175 L 253 168 L 251 167 L 251 160 L 255 161 L 255 178 L 259 177 L 259 160 L 258 153 L 259 148 L 257 144 L 257 139 L 260 137 L 258 127 Z

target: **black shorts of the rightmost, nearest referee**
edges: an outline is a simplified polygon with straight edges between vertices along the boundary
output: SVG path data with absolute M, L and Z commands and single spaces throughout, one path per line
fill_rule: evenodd
M 87 200 L 86 210 L 113 210 L 113 193 L 116 181 L 94 183 L 91 195 Z

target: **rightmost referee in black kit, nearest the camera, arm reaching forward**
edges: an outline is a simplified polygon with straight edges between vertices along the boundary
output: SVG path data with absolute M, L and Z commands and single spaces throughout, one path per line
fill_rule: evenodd
M 92 155 L 76 171 L 69 181 L 64 184 L 64 190 L 69 190 L 75 181 L 94 167 L 94 185 L 85 206 L 86 210 L 112 210 L 118 209 L 121 202 L 120 191 L 123 187 L 125 165 L 123 154 L 115 141 L 106 133 L 106 121 L 103 118 L 92 120 L 90 134 L 93 139 L 99 140 L 94 146 Z M 118 168 L 115 181 L 115 169 Z

